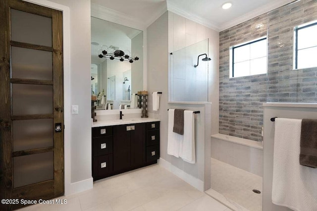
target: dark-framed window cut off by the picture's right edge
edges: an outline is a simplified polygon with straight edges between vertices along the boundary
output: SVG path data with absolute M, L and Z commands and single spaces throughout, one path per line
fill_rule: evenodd
M 295 69 L 317 67 L 317 23 L 295 28 Z

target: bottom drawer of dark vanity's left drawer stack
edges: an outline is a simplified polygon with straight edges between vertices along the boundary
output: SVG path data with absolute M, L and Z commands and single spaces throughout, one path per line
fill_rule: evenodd
M 113 171 L 112 154 L 93 158 L 93 177 L 107 176 Z

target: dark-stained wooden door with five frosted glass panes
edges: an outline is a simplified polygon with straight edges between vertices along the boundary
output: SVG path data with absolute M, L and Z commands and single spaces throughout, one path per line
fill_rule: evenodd
M 62 40 L 61 11 L 0 1 L 1 199 L 64 193 Z

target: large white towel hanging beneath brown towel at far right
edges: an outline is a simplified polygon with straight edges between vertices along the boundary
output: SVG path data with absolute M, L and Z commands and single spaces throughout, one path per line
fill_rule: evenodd
M 302 120 L 275 119 L 272 202 L 317 211 L 317 169 L 299 164 Z

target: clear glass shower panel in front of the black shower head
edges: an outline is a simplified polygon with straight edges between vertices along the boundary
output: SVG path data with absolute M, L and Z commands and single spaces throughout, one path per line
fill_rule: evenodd
M 170 57 L 170 101 L 208 101 L 208 39 L 177 50 Z M 197 58 L 199 57 L 199 65 Z

